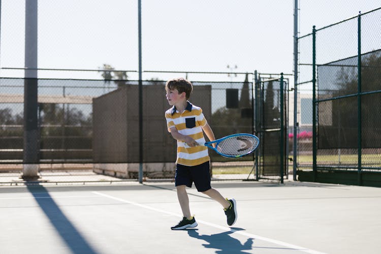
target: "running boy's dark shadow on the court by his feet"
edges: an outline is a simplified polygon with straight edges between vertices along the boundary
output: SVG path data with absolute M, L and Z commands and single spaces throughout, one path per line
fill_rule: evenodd
M 235 229 L 243 230 L 238 228 Z M 197 232 L 197 229 L 188 229 L 187 232 L 190 237 L 194 237 L 208 242 L 208 244 L 203 244 L 205 248 L 218 249 L 215 251 L 215 253 L 246 253 L 243 252 L 243 250 L 252 249 L 251 245 L 253 243 L 253 238 L 248 238 L 244 244 L 241 244 L 241 242 L 238 239 L 235 239 L 234 237 L 230 236 L 230 234 L 234 233 L 235 231 L 226 231 L 213 235 L 200 235 Z

